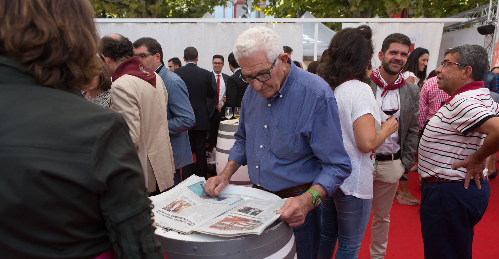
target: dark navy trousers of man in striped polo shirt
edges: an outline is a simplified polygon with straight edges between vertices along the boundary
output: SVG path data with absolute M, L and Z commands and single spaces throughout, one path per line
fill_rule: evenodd
M 426 183 L 419 209 L 426 259 L 472 259 L 473 228 L 491 195 L 487 180 L 480 185 L 473 180 L 468 189 L 463 182 Z

